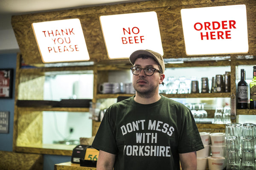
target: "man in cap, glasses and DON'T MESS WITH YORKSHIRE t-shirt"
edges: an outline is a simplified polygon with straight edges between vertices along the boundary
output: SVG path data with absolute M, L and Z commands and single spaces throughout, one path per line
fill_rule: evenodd
M 196 170 L 204 145 L 192 113 L 158 93 L 163 57 L 138 50 L 130 62 L 136 94 L 107 109 L 92 144 L 97 170 Z

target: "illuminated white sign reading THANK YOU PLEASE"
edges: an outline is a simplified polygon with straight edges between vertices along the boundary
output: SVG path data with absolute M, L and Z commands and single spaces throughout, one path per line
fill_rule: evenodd
M 32 23 L 43 62 L 89 60 L 79 19 Z

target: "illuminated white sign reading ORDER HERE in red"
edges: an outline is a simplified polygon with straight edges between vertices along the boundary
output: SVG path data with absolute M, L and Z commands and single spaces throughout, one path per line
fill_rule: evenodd
M 245 5 L 181 9 L 187 55 L 248 52 Z

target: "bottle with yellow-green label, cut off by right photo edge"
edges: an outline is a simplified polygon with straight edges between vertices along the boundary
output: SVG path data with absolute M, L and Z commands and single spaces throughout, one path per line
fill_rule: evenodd
M 253 80 L 250 82 L 250 109 L 256 109 L 256 66 L 253 66 Z

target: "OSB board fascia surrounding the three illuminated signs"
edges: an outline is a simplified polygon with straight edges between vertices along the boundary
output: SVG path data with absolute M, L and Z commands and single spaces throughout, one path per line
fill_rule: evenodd
M 25 14 L 12 17 L 12 26 L 26 64 L 41 64 L 41 56 L 31 24 L 34 22 L 79 18 L 91 61 L 109 60 L 100 26 L 99 16 L 143 11 L 156 11 L 164 50 L 164 58 L 187 57 L 180 17 L 182 8 L 245 4 L 249 52 L 256 54 L 256 1 L 255 0 L 151 0 L 70 10 Z

